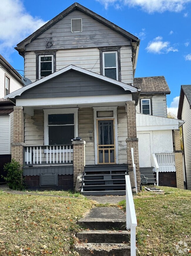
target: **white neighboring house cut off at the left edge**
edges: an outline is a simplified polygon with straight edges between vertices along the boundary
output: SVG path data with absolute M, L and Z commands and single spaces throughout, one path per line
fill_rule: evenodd
M 19 73 L 0 55 L 0 183 L 4 182 L 4 164 L 11 161 L 14 121 L 14 104 L 3 97 L 22 87 Z

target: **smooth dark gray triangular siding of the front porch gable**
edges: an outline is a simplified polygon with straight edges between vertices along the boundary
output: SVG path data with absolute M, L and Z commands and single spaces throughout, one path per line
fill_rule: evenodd
M 118 85 L 109 84 L 100 79 L 81 74 L 77 71 L 68 71 L 43 84 L 37 85 L 19 96 L 19 99 L 57 98 L 76 96 L 100 96 L 128 94 Z

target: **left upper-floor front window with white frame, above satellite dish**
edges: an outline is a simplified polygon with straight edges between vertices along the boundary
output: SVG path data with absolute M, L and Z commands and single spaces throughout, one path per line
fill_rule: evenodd
M 53 55 L 39 56 L 39 79 L 53 73 Z

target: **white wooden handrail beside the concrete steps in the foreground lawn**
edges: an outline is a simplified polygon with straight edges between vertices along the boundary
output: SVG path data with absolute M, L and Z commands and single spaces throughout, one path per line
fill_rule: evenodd
M 131 237 L 131 256 L 136 256 L 136 226 L 137 218 L 135 214 L 135 206 L 133 202 L 133 194 L 129 175 L 125 175 L 126 183 L 126 228 L 130 229 Z

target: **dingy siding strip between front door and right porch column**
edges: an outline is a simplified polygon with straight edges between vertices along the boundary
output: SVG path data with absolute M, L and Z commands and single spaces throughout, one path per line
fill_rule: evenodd
M 127 164 L 127 113 L 125 107 L 117 108 L 117 127 L 118 127 L 118 159 L 119 164 Z

